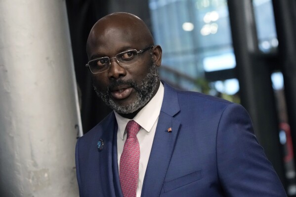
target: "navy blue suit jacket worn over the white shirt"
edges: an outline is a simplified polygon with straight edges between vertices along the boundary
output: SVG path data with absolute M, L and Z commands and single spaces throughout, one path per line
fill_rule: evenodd
M 112 112 L 79 138 L 76 168 L 81 197 L 123 197 L 116 133 Z M 100 139 L 104 146 L 99 152 Z M 141 197 L 196 196 L 285 197 L 286 193 L 242 106 L 178 91 L 165 83 Z

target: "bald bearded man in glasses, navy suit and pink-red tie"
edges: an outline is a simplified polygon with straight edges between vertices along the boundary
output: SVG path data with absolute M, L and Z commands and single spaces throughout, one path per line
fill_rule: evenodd
M 284 197 L 238 104 L 160 81 L 162 49 L 138 17 L 113 13 L 86 65 L 114 112 L 76 146 L 81 197 Z

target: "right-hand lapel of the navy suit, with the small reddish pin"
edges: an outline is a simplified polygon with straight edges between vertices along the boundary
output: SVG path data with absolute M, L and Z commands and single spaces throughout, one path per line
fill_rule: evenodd
M 141 197 L 158 197 L 166 177 L 180 121 L 173 116 L 179 109 L 177 93 L 166 83 L 161 113 L 144 177 Z M 168 129 L 171 131 L 168 132 Z

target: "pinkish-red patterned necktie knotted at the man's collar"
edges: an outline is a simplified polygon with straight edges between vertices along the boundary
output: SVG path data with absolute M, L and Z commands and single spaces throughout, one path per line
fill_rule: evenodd
M 140 127 L 134 120 L 127 122 L 127 140 L 119 164 L 119 180 L 124 197 L 136 197 L 137 193 L 140 145 L 136 135 Z

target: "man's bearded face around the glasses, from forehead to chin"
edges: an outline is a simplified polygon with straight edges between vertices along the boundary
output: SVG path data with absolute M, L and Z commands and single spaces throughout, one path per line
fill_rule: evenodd
M 145 41 L 137 40 L 130 31 L 111 28 L 100 32 L 88 45 L 89 60 L 97 57 L 115 57 L 130 49 L 147 47 Z M 153 49 L 151 49 L 153 50 Z M 109 70 L 92 74 L 96 93 L 113 110 L 120 114 L 131 114 L 144 107 L 155 95 L 158 85 L 158 71 L 153 64 L 151 50 L 138 55 L 138 62 L 121 67 L 115 59 L 111 60 Z

